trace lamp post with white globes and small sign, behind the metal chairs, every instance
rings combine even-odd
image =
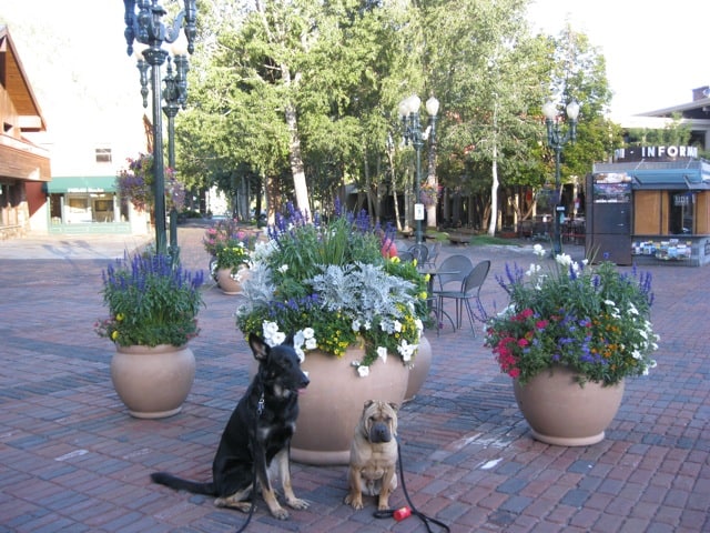
[[[422,221],[424,220],[424,203],[420,198],[420,184],[422,184],[422,148],[424,148],[424,141],[428,137],[426,132],[422,131],[422,122],[419,121],[419,108],[422,100],[416,94],[404,99],[399,102],[399,119],[402,120],[403,137],[405,144],[412,143],[416,151],[417,164],[416,164],[416,179],[414,184],[414,220],[416,221],[416,241],[417,244],[423,242],[422,234]],[[439,111],[439,101],[432,97],[426,102],[426,111],[429,114],[430,131],[434,131],[436,123],[436,113]]]

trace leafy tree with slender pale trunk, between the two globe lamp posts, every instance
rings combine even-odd
[[[544,49],[527,33],[525,3],[467,0],[453,9],[440,2],[428,18],[439,29],[432,84],[446,110],[438,145],[462,171],[488,174],[490,234],[498,223],[499,182],[530,164],[530,140],[539,139],[529,110],[541,101]]]

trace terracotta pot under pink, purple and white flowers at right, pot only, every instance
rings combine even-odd
[[[580,386],[574,376],[572,371],[556,366],[525,385],[514,382],[515,398],[534,439],[559,446],[587,446],[604,440],[621,405],[623,382]]]

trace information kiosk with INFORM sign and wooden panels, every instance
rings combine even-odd
[[[595,164],[586,244],[618,264],[709,264],[710,161],[693,147],[639,147]]]

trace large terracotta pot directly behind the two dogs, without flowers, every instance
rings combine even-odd
[[[363,350],[348,349],[342,358],[308,352],[301,368],[311,384],[301,396],[296,433],[291,443],[294,461],[308,464],[348,464],[355,426],[366,400],[402,404],[409,370],[390,354],[376,361],[367,378],[351,365],[363,359]]]

